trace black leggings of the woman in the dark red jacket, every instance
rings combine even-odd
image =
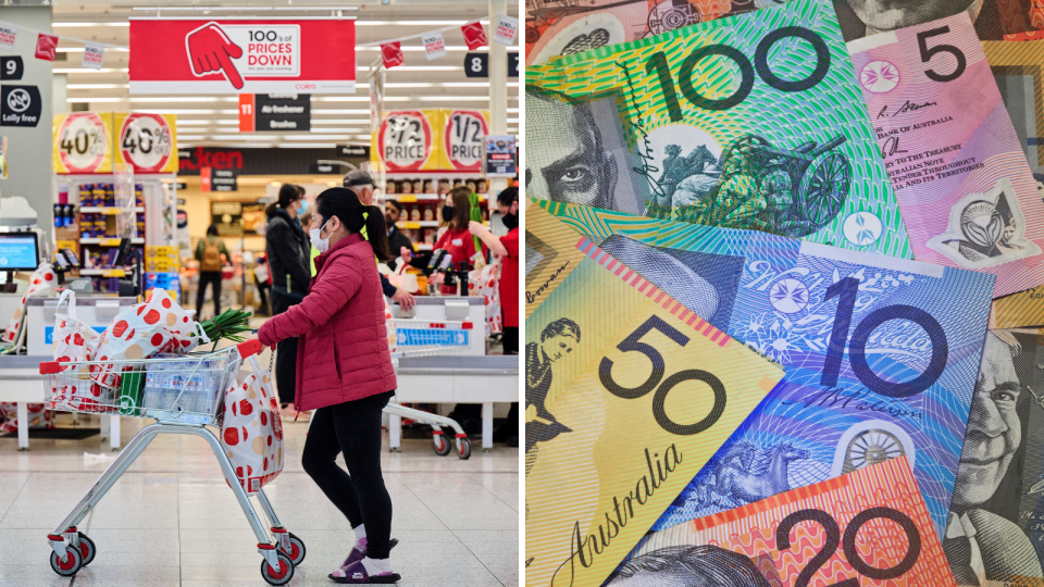
[[[366,526],[366,555],[387,559],[391,496],[381,475],[381,410],[393,391],[320,408],[304,437],[301,464],[351,527]],[[337,465],[345,455],[348,473]]]

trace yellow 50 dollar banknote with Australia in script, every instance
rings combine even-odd
[[[525,321],[529,585],[600,585],[783,377],[587,252]]]

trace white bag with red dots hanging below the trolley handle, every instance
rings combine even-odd
[[[221,446],[239,484],[252,494],[283,472],[283,422],[272,374],[250,357],[252,373],[240,372],[225,391]]]

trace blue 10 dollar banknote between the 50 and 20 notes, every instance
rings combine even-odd
[[[905,455],[942,536],[993,276],[762,233],[546,208],[598,246],[591,254],[611,254],[786,372],[652,529]]]

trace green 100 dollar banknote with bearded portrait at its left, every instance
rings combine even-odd
[[[562,58],[526,82],[531,197],[912,254],[824,0]]]

